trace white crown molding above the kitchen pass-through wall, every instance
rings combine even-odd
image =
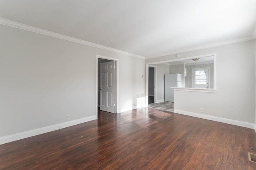
[[[254,30],[255,32],[255,30]],[[174,55],[174,54],[178,54],[178,53],[185,53],[188,51],[194,51],[194,50],[200,50],[200,49],[206,49],[206,48],[210,48],[210,47],[216,47],[216,46],[220,46],[220,45],[227,45],[227,44],[232,44],[232,43],[239,43],[242,41],[249,41],[255,39],[252,36],[249,37],[245,37],[245,38],[240,38],[240,39],[231,39],[231,40],[227,40],[227,41],[221,41],[218,43],[212,43],[212,44],[208,44],[208,45],[201,45],[201,46],[196,46],[196,47],[192,47],[192,48],[187,48],[187,49],[183,49],[180,51],[172,51],[170,53],[165,53],[162,55],[155,55],[155,56],[150,56],[150,57],[146,57],[146,59],[152,59],[152,58],[156,58],[156,57],[163,57],[163,56],[167,56],[167,55]]]

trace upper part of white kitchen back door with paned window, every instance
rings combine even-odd
[[[209,88],[210,68],[193,68],[193,88]]]

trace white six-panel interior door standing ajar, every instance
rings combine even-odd
[[[115,113],[115,61],[100,63],[100,110]]]

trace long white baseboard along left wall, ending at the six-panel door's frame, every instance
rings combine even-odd
[[[63,129],[65,127],[78,125],[80,123],[85,123],[85,122],[96,120],[96,119],[98,119],[98,117],[96,115],[94,115],[94,116],[85,117],[85,118],[82,118],[82,119],[76,119],[76,120],[68,121],[68,122],[65,122],[65,123],[59,123],[59,124],[56,124],[56,125],[51,125],[51,126],[47,126],[47,127],[34,129],[34,130],[31,130],[31,131],[16,133],[14,135],[8,135],[8,136],[0,137],[0,145],[2,145],[4,143],[13,142],[13,141],[18,141],[20,139],[25,139],[25,138],[28,138],[28,137],[40,135],[40,134],[43,134],[43,133],[56,131],[56,130],[59,130],[59,129]]]

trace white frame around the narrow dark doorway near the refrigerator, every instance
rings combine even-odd
[[[145,106],[148,107],[148,69],[154,67],[154,103],[157,102],[157,66],[146,64],[146,92],[145,92]]]

